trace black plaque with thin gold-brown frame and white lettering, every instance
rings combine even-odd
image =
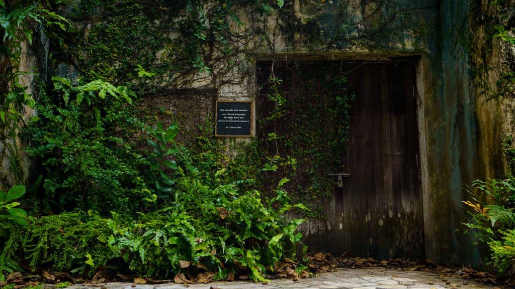
[[[216,136],[251,136],[251,102],[217,102]]]

